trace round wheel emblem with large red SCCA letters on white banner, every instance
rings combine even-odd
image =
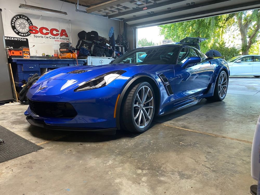
[[[31,34],[42,34],[42,35],[52,35],[52,36],[65,36],[68,37],[68,34],[65,29],[62,29],[61,32],[56,28],[51,28],[50,30],[46,27],[34,26],[30,18],[23,15],[17,14],[11,19],[12,30],[21,37],[28,37]]]

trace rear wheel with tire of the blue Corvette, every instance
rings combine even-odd
[[[220,72],[218,75],[214,94],[212,97],[207,97],[207,100],[213,100],[213,101],[222,101],[226,97],[226,93],[228,90],[228,76],[224,70]]]

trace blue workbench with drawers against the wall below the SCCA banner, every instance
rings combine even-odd
[[[15,86],[21,87],[22,81],[37,73],[39,76],[44,69],[53,70],[65,66],[77,66],[75,59],[42,59],[42,58],[12,58],[9,59],[14,76]],[[86,65],[86,59],[78,59],[79,65]]]

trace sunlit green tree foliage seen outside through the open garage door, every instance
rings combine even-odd
[[[236,14],[227,14],[192,21],[160,25],[159,27],[160,34],[164,35],[165,39],[170,39],[174,42],[179,42],[185,37],[209,38],[207,41],[203,41],[201,43],[201,51],[206,53],[210,49],[216,49],[219,50],[222,55],[226,56],[226,59],[228,59],[241,54],[240,50],[243,54],[248,54],[248,50],[250,53],[256,53],[256,47],[258,46],[256,46],[255,43],[259,41],[260,38],[260,31],[258,29],[259,25],[260,10],[253,10],[239,12]],[[242,34],[242,31],[245,32],[245,36],[242,37],[244,40],[243,44],[241,42],[240,48],[226,47],[224,35],[226,33],[230,34],[232,43],[232,40],[236,40],[236,37],[232,37],[232,35],[237,29],[239,29]],[[255,49],[249,49],[251,46]]]

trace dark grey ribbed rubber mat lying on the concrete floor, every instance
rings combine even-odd
[[[5,141],[5,144],[0,145],[0,163],[43,148],[9,131],[1,125],[0,139]]]

